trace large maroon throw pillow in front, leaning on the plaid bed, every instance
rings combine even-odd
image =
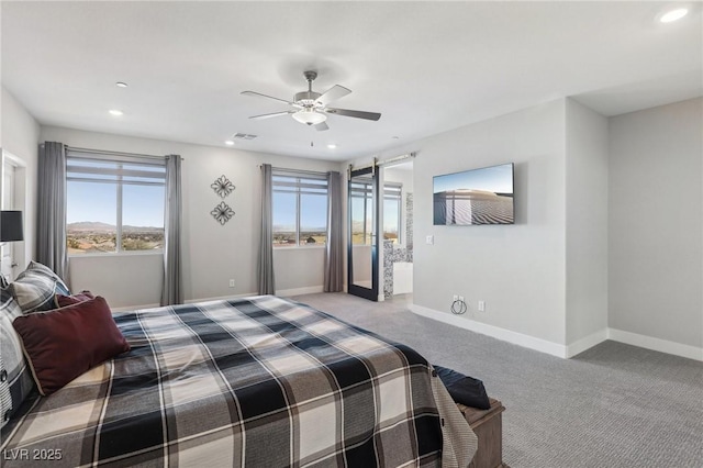
[[[98,296],[74,305],[19,316],[12,322],[43,395],[121,353],[130,345]]]

